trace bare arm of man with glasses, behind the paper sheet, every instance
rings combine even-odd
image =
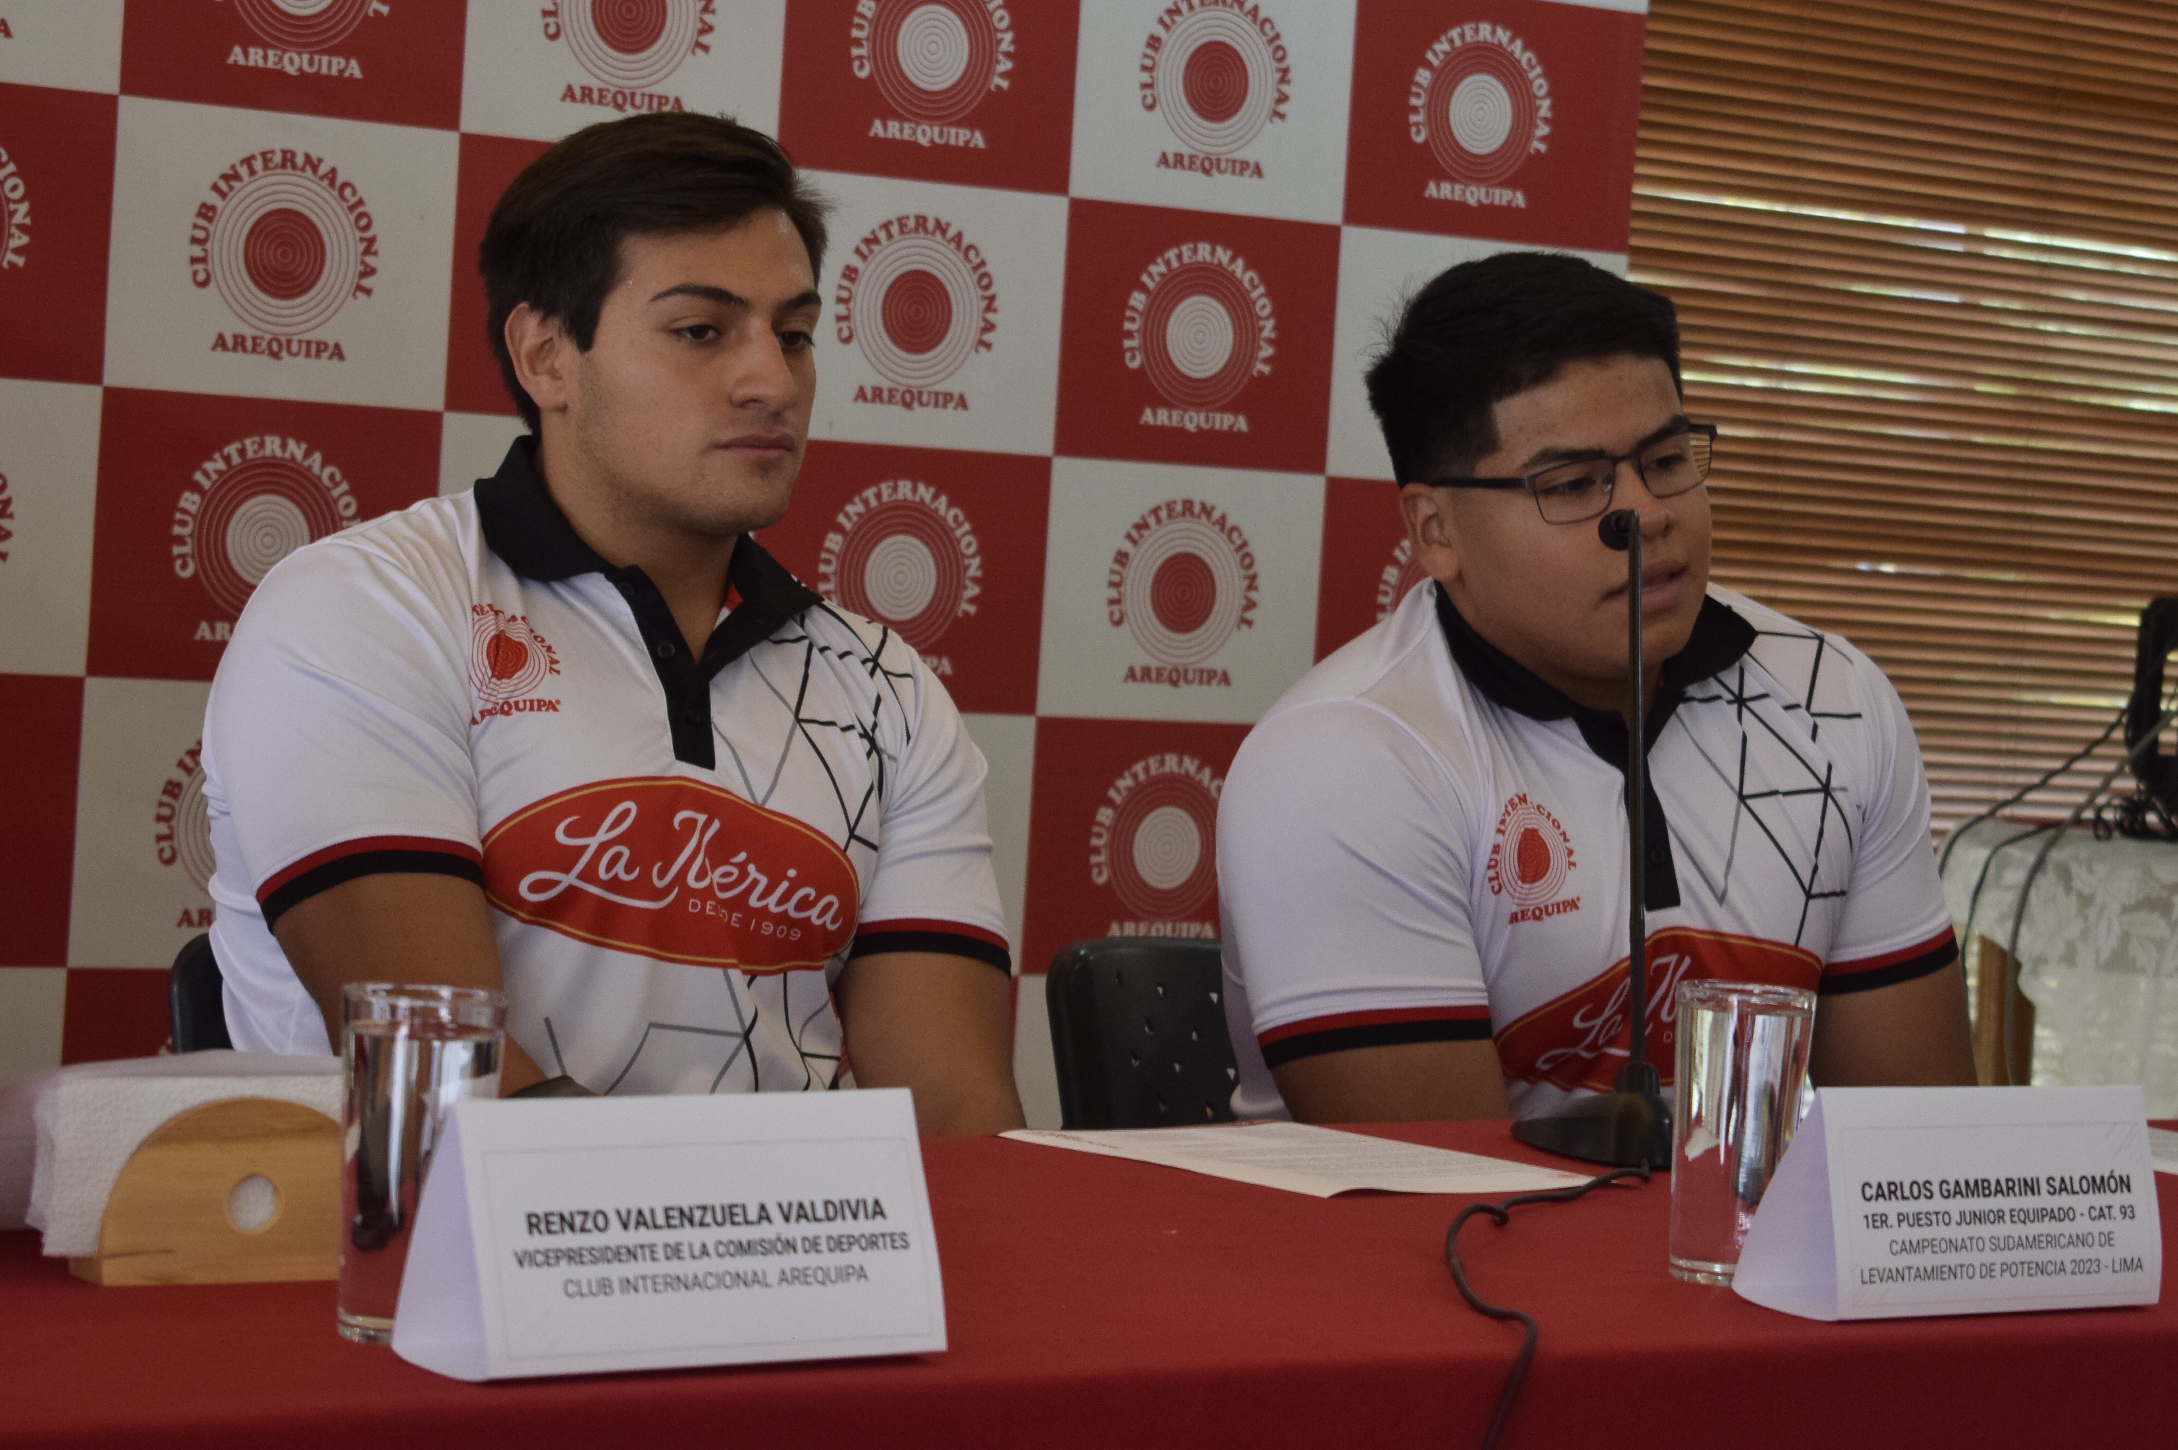
[[[1512,1117],[1496,1043],[1398,1043],[1294,1058],[1270,1069],[1298,1123]]]

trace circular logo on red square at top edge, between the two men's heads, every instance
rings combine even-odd
[[[869,0],[849,22],[856,76],[906,120],[943,124],[976,109],[1013,67],[1013,15],[984,0]]]

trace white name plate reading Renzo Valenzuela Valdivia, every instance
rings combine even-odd
[[[394,1313],[462,1380],[943,1348],[906,1089],[462,1102]]]

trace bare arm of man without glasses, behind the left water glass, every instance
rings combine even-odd
[[[287,908],[272,936],[325,1012],[325,1034],[335,1052],[340,988],[348,982],[503,986],[484,890],[455,875],[359,875]],[[544,1071],[507,1036],[499,1093],[542,1080]]]

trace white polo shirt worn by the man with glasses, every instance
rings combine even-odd
[[[1712,588],[1649,734],[1649,1060],[1688,978],[1847,993],[1956,958],[1906,710],[1845,640]],[[1422,581],[1263,716],[1218,812],[1233,1110],[1270,1067],[1496,1039],[1514,1113],[1627,1056],[1625,725]]]

